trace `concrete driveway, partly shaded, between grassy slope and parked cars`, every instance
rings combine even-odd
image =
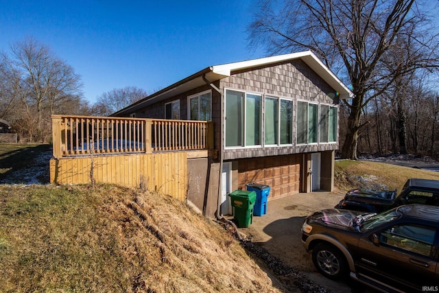
[[[319,209],[333,208],[343,196],[343,191],[312,192],[270,200],[265,215],[253,216],[248,228],[238,229],[270,255],[297,268],[308,279],[332,292],[375,292],[354,281],[344,283],[322,277],[313,266],[311,253],[307,253],[300,241],[300,228],[305,217]]]

